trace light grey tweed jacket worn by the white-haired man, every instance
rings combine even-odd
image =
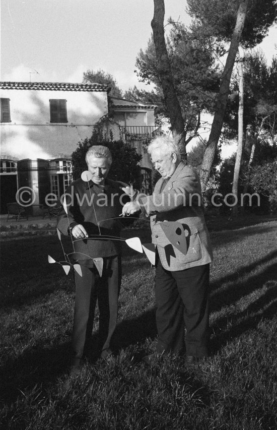
[[[150,216],[152,242],[163,267],[176,271],[210,263],[213,253],[197,172],[181,161],[161,192],[163,183],[160,178],[152,196],[138,196]]]

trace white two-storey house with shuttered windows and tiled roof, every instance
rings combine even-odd
[[[1,213],[24,187],[32,190],[34,215],[49,194],[60,198],[72,180],[72,152],[109,113],[109,104],[114,122],[107,129],[112,128],[115,140],[123,137],[143,153],[142,176],[151,169],[142,140],[130,140],[128,128],[155,129],[154,107],[126,100],[108,103],[108,92],[107,85],[97,83],[1,83]],[[143,129],[137,132],[142,135]],[[20,195],[24,203],[27,194]]]

